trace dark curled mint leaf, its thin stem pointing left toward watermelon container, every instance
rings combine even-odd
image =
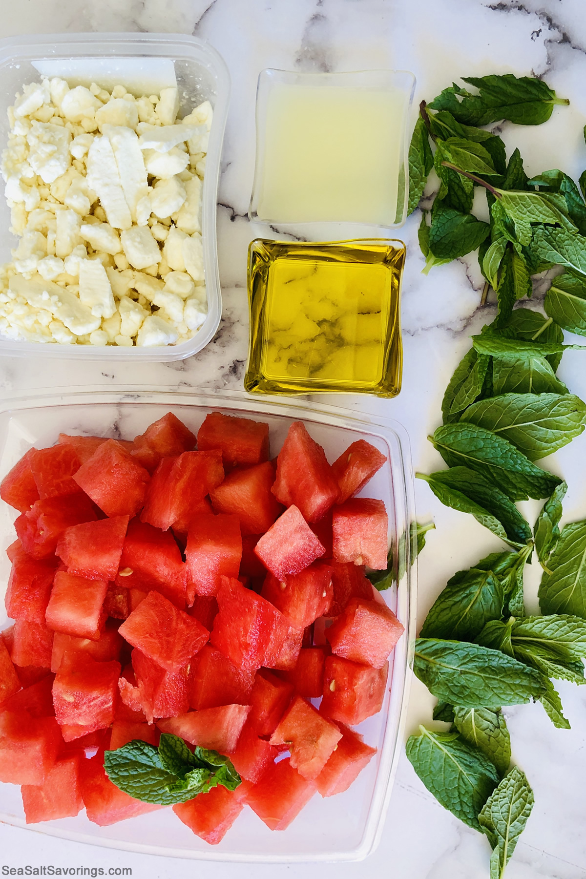
[[[465,413],[466,414],[466,413]],[[442,504],[453,510],[469,512],[478,522],[512,546],[523,546],[531,540],[527,521],[503,491],[467,467],[452,467],[424,479]]]

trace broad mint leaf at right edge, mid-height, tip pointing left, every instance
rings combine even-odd
[[[574,394],[503,394],[473,403],[462,421],[486,427],[539,461],[580,436],[586,405]]]

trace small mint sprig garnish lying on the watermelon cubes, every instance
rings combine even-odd
[[[222,754],[196,747],[163,733],[158,748],[135,739],[116,751],[106,751],[104,768],[110,781],[143,803],[163,806],[186,803],[216,785],[235,790],[240,775]]]

